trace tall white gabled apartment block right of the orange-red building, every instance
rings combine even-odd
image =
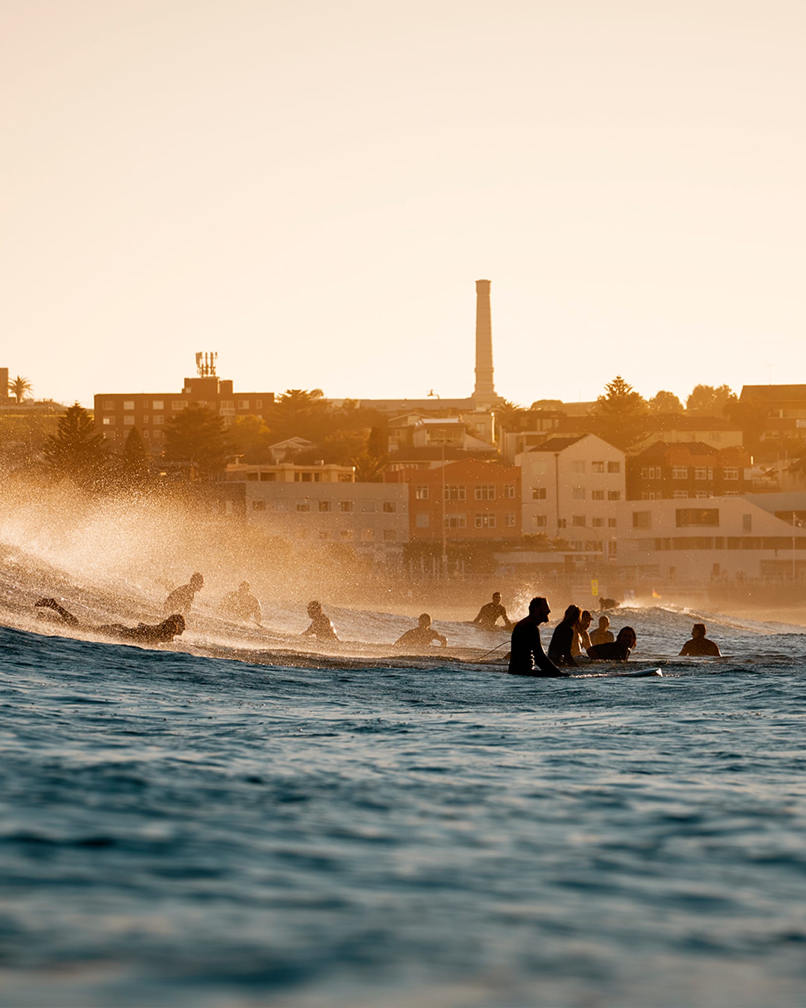
[[[567,539],[574,550],[614,559],[625,497],[624,453],[596,434],[552,437],[515,458],[524,534]]]

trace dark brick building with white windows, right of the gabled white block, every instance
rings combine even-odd
[[[754,488],[753,459],[740,446],[656,442],[626,460],[627,500],[735,497]]]

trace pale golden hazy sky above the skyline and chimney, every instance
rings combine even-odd
[[[37,396],[806,382],[806,4],[0,0]]]

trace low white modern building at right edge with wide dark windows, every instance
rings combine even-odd
[[[803,582],[804,518],[804,494],[626,501],[619,573],[667,585]]]

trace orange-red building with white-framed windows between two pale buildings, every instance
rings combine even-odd
[[[435,469],[387,472],[384,481],[409,484],[411,541],[500,542],[520,539],[521,470],[475,459]]]

